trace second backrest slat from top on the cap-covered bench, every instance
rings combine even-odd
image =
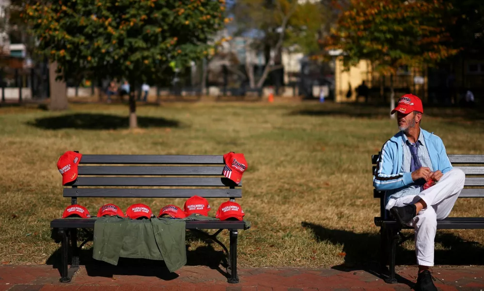
[[[79,175],[135,175],[135,176],[221,176],[223,166],[218,167],[157,167],[157,166],[79,166]]]

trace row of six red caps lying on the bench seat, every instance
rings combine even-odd
[[[194,213],[208,216],[209,210],[210,204],[208,204],[208,200],[195,195],[187,199],[183,209],[172,204],[163,207],[160,210],[158,217],[171,216],[172,218],[185,218]],[[233,201],[226,201],[220,204],[219,210],[217,210],[215,217],[219,218],[220,220],[227,220],[230,218],[243,220],[244,215],[244,210],[242,210],[242,207],[240,207],[238,203]],[[97,217],[102,216],[120,216],[129,217],[131,219],[149,219],[155,217],[155,215],[151,211],[151,208],[141,203],[129,206],[126,210],[126,215],[123,213],[123,210],[121,210],[118,206],[109,203],[99,208],[97,212]],[[68,206],[64,210],[64,212],[62,213],[62,218],[66,217],[90,218],[91,214],[89,214],[89,211],[85,207],[75,204]]]

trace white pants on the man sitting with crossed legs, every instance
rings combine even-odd
[[[415,227],[415,253],[417,264],[434,265],[434,239],[437,231],[437,220],[449,216],[455,200],[464,188],[466,175],[461,169],[453,168],[445,173],[434,186],[423,190],[419,195],[408,195],[400,198],[390,198],[385,209],[393,206],[402,207],[422,199],[427,208],[420,210],[408,226]],[[432,207],[430,207],[432,206]]]

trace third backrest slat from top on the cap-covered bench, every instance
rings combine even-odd
[[[79,177],[72,186],[237,186],[228,178]],[[242,186],[242,181],[238,184]]]

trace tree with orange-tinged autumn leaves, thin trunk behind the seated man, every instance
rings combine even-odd
[[[351,0],[325,41],[326,49],[342,49],[343,65],[369,60],[390,75],[390,107],[395,107],[393,75],[403,65],[422,67],[459,52],[450,33],[453,6],[445,0]]]

